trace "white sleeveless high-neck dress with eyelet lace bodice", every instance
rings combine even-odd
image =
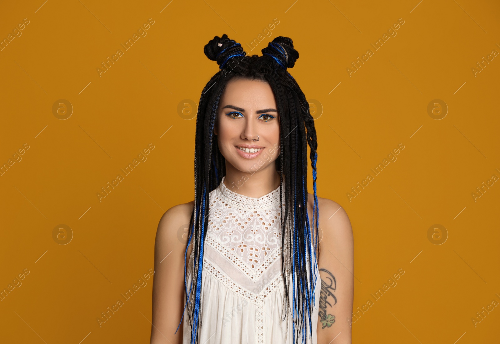
[[[198,342],[291,344],[293,327],[289,310],[288,327],[281,317],[284,278],[279,186],[262,197],[253,198],[230,190],[224,185],[224,179],[225,176],[209,195]],[[284,209],[284,188],[282,190]],[[193,253],[187,267],[188,291]],[[308,332],[304,340],[308,344],[316,344],[321,289],[319,274],[317,276],[315,307],[311,314],[312,340]],[[187,325],[184,314],[183,344],[189,343],[190,334],[191,326]],[[301,340],[300,337],[299,342]]]

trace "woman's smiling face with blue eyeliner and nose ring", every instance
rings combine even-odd
[[[213,131],[226,163],[236,170],[274,170],[274,160],[279,156],[279,114],[269,84],[231,79],[220,98]],[[254,141],[257,135],[258,141]],[[226,169],[231,166],[226,165]]]

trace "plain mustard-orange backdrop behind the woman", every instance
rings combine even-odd
[[[249,54],[278,35],[300,54],[289,71],[323,109],[318,195],[346,209],[354,232],[354,311],[405,271],[352,323],[353,342],[497,342],[500,307],[471,319],[500,302],[500,182],[476,201],[472,192],[500,177],[500,56],[476,75],[472,67],[500,52],[500,4],[168,1],[1,5],[0,38],[29,24],[0,51],[0,162],[29,149],[0,176],[0,289],[29,274],[0,301],[0,341],[149,342],[151,278],[100,327],[96,318],[153,267],[162,213],[194,197],[195,118],[178,106],[196,106],[218,70],[203,46],[227,33]],[[99,76],[149,18],[147,34]],[[370,43],[399,18],[375,51]],[[349,76],[367,49],[373,55]],[[58,99],[71,103],[69,118],[53,114]],[[433,99],[447,104],[442,119],[427,112]],[[147,159],[99,201],[149,143]],[[349,201],[399,143],[397,160]],[[72,232],[64,245],[53,238],[60,224]],[[444,243],[428,238],[435,224],[446,228]]]

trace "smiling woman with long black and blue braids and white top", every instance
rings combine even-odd
[[[194,200],[157,228],[151,343],[350,343],[352,229],[316,195],[314,120],[286,70],[292,40],[247,56],[224,34],[204,53],[219,71],[199,100]]]

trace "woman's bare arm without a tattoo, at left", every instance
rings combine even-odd
[[[182,344],[182,323],[175,333],[184,309],[187,242],[182,233],[189,224],[193,203],[171,207],[158,223],[154,241],[151,344]]]

